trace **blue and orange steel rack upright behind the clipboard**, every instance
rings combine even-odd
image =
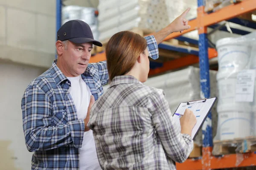
[[[210,79],[209,79],[209,58],[208,58],[208,40],[207,40],[207,27],[204,27],[204,0],[198,0],[198,21],[199,21],[199,67],[200,67],[200,85],[201,85],[201,97],[210,97]],[[203,158],[202,164],[204,170],[210,169],[211,161],[209,157],[212,153],[212,113],[209,113],[203,128]]]

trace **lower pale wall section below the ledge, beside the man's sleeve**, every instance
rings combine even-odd
[[[0,60],[0,170],[31,169],[22,127],[21,98],[45,69]]]

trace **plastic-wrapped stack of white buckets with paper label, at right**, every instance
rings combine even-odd
[[[215,140],[256,135],[255,42],[256,32],[239,38],[224,38],[216,43],[219,100]]]

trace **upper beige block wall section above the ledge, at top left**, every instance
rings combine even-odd
[[[0,59],[49,67],[55,58],[55,13],[55,0],[0,0]]]

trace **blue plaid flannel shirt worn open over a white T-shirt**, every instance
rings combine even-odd
[[[145,37],[149,57],[158,58],[154,36]],[[22,101],[23,131],[32,156],[32,170],[77,170],[79,149],[84,135],[84,120],[78,120],[68,89],[71,84],[55,64],[33,80]],[[108,83],[107,62],[90,63],[81,74],[95,100]],[[86,139],[85,139],[86,140]],[[86,161],[86,160],[84,160]]]

